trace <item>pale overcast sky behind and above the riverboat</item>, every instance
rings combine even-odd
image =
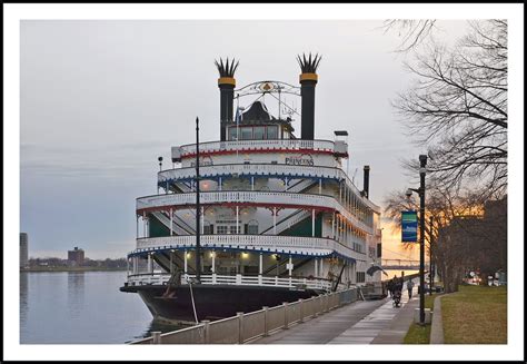
[[[390,106],[411,75],[392,52],[400,39],[381,24],[22,21],[20,229],[30,256],[66,257],[79,246],[91,258],[123,257],[135,248],[136,198],[156,193],[158,156],[168,161],[171,146],[195,140],[197,116],[200,139],[219,138],[219,57],[240,60],[237,87],[265,79],[298,86],[296,55],[321,53],[316,138],[348,130],[349,175],[358,169],[361,189],[369,165],[370,199],[382,205],[411,183],[400,159],[425,150],[410,145]],[[466,22],[438,26],[453,41]],[[300,136],[299,119],[294,127]]]

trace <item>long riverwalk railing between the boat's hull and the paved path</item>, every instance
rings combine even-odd
[[[268,336],[278,329],[288,329],[307,318],[317,317],[330,309],[352,303],[360,298],[359,291],[352,287],[308,299],[285,302],[275,307],[262,307],[251,313],[238,313],[236,316],[218,321],[203,319],[196,326],[170,333],[152,333],[152,336],[130,344],[243,344],[258,337]]]

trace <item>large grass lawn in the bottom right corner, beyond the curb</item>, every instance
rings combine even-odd
[[[441,312],[445,344],[507,344],[506,286],[459,286]]]

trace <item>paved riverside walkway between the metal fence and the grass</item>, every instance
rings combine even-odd
[[[408,301],[404,289],[399,308],[389,297],[358,301],[250,344],[402,344],[419,305],[416,291]]]

